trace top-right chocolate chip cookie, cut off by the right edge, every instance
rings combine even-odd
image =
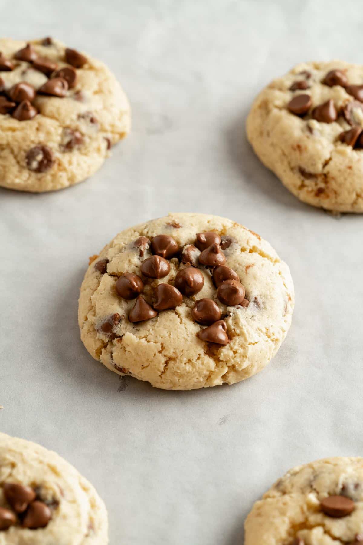
[[[257,96],[247,136],[301,201],[363,212],[363,66],[303,63]]]

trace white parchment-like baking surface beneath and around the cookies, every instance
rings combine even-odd
[[[133,129],[93,178],[0,190],[0,429],[56,450],[107,504],[111,545],[238,545],[285,470],[362,455],[363,217],[300,203],[244,136],[257,92],[303,60],[362,63],[359,0],[17,0],[0,35],[53,35],[99,57]],[[230,217],[290,265],[293,324],[262,373],[191,392],[120,379],[88,355],[88,257],[168,211]]]

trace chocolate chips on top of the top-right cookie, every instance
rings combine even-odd
[[[294,82],[290,90],[309,89],[311,73],[304,70],[299,73],[299,76],[303,76],[303,79]],[[333,123],[342,114],[353,128],[343,131],[339,136],[339,140],[344,144],[348,144],[348,146],[352,146],[352,148],[363,149],[363,129],[360,125],[356,124],[353,115],[354,110],[357,108],[363,112],[363,85],[349,85],[347,76],[342,70],[330,70],[323,78],[322,83],[329,87],[336,85],[343,87],[355,100],[348,102],[342,108],[341,112],[337,110],[333,99],[327,100],[323,104],[313,108],[311,118],[321,123]],[[299,94],[290,100],[287,109],[296,116],[304,117],[311,110],[311,106],[311,96],[308,94]]]

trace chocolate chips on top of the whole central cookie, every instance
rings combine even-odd
[[[141,263],[140,272],[143,277],[133,272],[124,272],[116,281],[115,290],[122,299],[136,299],[128,314],[130,322],[142,322],[155,318],[158,312],[181,305],[183,296],[190,297],[199,293],[204,286],[204,276],[200,267],[211,272],[220,302],[226,306],[248,306],[249,301],[245,299],[245,289],[238,275],[225,265],[226,257],[222,250],[230,246],[229,237],[221,239],[214,232],[197,233],[194,245],[188,244],[183,249],[180,249],[173,237],[164,234],[157,235],[151,241],[146,237],[139,237],[133,244],[139,249],[140,257],[144,256],[145,249],[149,246],[153,255]],[[175,257],[186,267],[177,272],[174,286],[168,283],[157,284],[152,294],[152,305],[149,304],[143,295],[145,283],[149,279],[167,276],[170,271],[169,260]],[[107,272],[107,264],[107,259],[101,259],[95,263],[94,267],[96,271],[104,274]],[[192,309],[192,317],[195,322],[206,326],[198,332],[201,340],[217,344],[229,342],[227,325],[221,319],[222,311],[215,301],[206,298],[196,301]],[[101,331],[112,335],[113,328],[120,319],[119,314],[113,314],[101,325]]]

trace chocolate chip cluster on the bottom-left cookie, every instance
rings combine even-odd
[[[30,486],[5,482],[3,493],[11,509],[0,507],[0,530],[8,530],[15,525],[36,530],[45,528],[51,520],[50,506],[38,499],[35,490]]]

